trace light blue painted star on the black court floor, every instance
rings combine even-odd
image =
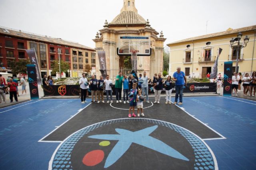
[[[155,125],[135,132],[126,129],[116,128],[115,130],[119,134],[98,134],[88,136],[88,138],[118,140],[114,148],[108,154],[104,168],[108,168],[109,166],[114,164],[119,158],[121,158],[121,156],[128,150],[128,148],[130,148],[132,143],[139,144],[141,146],[150,148],[152,150],[177,159],[189,161],[188,158],[180,154],[180,152],[178,152],[174,148],[168,146],[161,140],[149,136],[149,134],[156,130],[157,127],[158,125]]]

